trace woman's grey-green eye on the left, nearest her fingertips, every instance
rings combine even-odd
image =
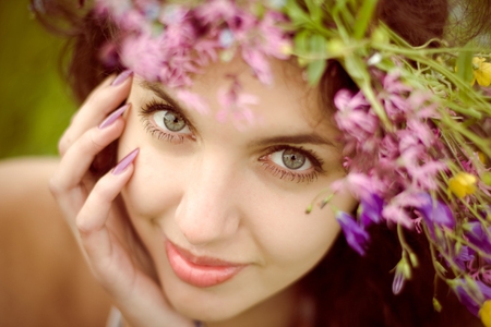
[[[141,108],[140,116],[145,130],[158,140],[178,144],[194,140],[187,119],[168,104],[153,100]]]

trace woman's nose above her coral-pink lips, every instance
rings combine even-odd
[[[240,177],[226,156],[211,155],[195,164],[175,217],[190,244],[204,245],[237,232]]]

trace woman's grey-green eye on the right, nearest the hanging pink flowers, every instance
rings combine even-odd
[[[291,182],[313,182],[324,172],[322,159],[302,147],[275,146],[259,160],[273,175]]]

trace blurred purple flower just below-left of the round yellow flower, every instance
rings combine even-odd
[[[417,208],[421,213],[424,223],[428,226],[432,235],[434,235],[435,225],[447,228],[455,227],[455,219],[448,206],[440,201],[434,201],[428,193],[420,193],[418,197],[420,204]]]

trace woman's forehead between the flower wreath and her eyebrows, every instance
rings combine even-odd
[[[250,66],[240,58],[230,62],[215,62],[205,66],[192,76],[193,84],[189,90],[199,95],[211,109],[211,116],[226,111],[223,99],[235,93],[243,108],[228,108],[228,119],[233,120],[237,110],[250,110],[253,123],[247,130],[290,129],[291,132],[307,130],[325,131],[330,136],[337,130],[332,124],[326,109],[320,102],[319,88],[311,87],[302,77],[303,72],[291,61],[268,60],[273,83],[265,85],[252,73]],[[191,118],[195,117],[192,108],[179,100],[178,89],[161,84],[152,84],[152,88],[160,88],[176,102],[179,102]],[[208,114],[209,116],[209,114]],[[194,120],[194,119],[192,119]],[[197,118],[196,120],[202,120]],[[209,121],[207,119],[206,121]]]

